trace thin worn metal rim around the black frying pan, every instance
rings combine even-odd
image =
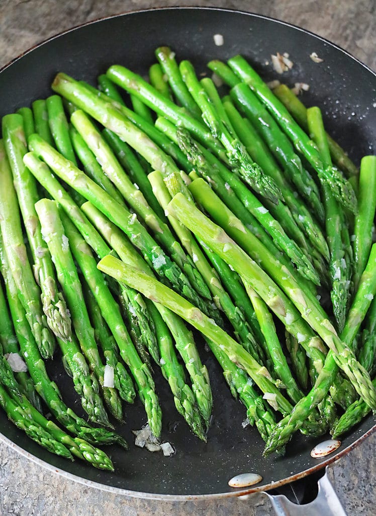
[[[200,7],[195,7],[195,6],[166,7],[165,6],[165,7],[153,7],[153,8],[149,8],[149,9],[135,9],[135,10],[128,10],[128,11],[124,11],[124,12],[121,12],[121,13],[118,13],[118,14],[113,14],[113,15],[110,15],[110,16],[102,17],[102,18],[97,18],[95,20],[90,20],[88,22],[83,22],[83,23],[75,25],[75,26],[73,26],[73,27],[71,27],[69,29],[63,30],[60,33],[54,34],[53,36],[50,36],[50,37],[40,41],[39,43],[36,43],[35,45],[32,45],[31,47],[29,47],[29,49],[25,50],[24,52],[22,52],[18,56],[14,57],[8,63],[6,63],[6,65],[4,65],[2,68],[0,68],[0,74],[3,71],[5,71],[7,68],[9,68],[11,65],[13,65],[13,63],[18,61],[19,59],[21,59],[25,55],[29,54],[33,50],[36,50],[39,47],[43,46],[44,44],[49,43],[50,41],[53,41],[56,38],[59,38],[60,36],[63,36],[65,34],[69,34],[72,31],[75,31],[76,29],[79,29],[81,27],[86,27],[87,25],[92,25],[92,24],[103,22],[103,21],[106,21],[106,20],[111,20],[113,18],[123,17],[123,16],[128,15],[128,14],[137,14],[137,13],[153,12],[153,11],[165,11],[165,10],[178,11],[178,10],[183,10],[183,9],[185,9],[185,10],[187,10],[187,9],[189,9],[189,10],[196,10],[196,11],[197,10],[223,11],[223,12],[228,12],[228,13],[244,14],[244,15],[250,16],[252,18],[259,18],[259,19],[262,19],[262,20],[268,20],[268,21],[272,21],[272,22],[275,22],[275,23],[280,24],[280,25],[291,27],[291,28],[293,28],[295,30],[298,30],[298,31],[304,33],[304,34],[308,34],[310,36],[313,36],[314,38],[316,38],[319,41],[322,41],[322,42],[328,44],[331,47],[334,47],[336,50],[342,52],[343,54],[345,54],[348,57],[350,57],[351,59],[353,59],[358,65],[361,65],[363,68],[365,68],[376,79],[376,72],[374,72],[369,66],[365,65],[365,63],[363,63],[362,61],[360,61],[359,59],[354,57],[350,52],[344,50],[339,45],[331,42],[330,40],[328,40],[326,38],[323,38],[323,37],[313,33],[310,30],[304,29],[304,28],[299,27],[297,25],[294,25],[292,23],[288,23],[288,22],[285,22],[285,21],[282,21],[282,20],[278,20],[277,18],[272,18],[272,17],[265,16],[263,14],[247,12],[247,11],[243,11],[243,10],[239,10],[239,9],[227,9],[227,8],[222,8],[222,7],[210,7],[210,6],[207,6],[207,7],[205,7],[205,6],[200,6]],[[159,501],[165,501],[165,502],[175,502],[175,501],[176,502],[187,502],[187,501],[202,500],[202,499],[208,499],[208,498],[209,499],[232,498],[232,497],[244,496],[244,495],[248,495],[248,494],[252,494],[252,493],[256,493],[256,492],[264,492],[264,491],[267,491],[267,490],[270,490],[270,489],[278,488],[280,486],[285,485],[286,483],[292,482],[294,480],[298,480],[299,478],[303,478],[303,477],[305,477],[307,475],[310,475],[311,473],[314,473],[314,472],[317,472],[317,471],[321,470],[324,467],[327,467],[328,465],[332,464],[333,462],[335,462],[339,458],[343,457],[344,455],[347,455],[350,450],[352,450],[358,444],[360,444],[365,439],[367,439],[375,431],[376,431],[376,424],[374,424],[369,430],[367,430],[364,434],[362,434],[362,436],[357,438],[353,443],[349,444],[346,448],[341,449],[340,451],[338,451],[338,453],[336,453],[332,457],[329,457],[327,460],[322,461],[319,464],[317,464],[315,466],[312,466],[312,467],[310,467],[310,468],[308,468],[308,469],[306,469],[306,470],[304,470],[304,471],[302,471],[302,472],[300,472],[298,474],[294,474],[294,475],[285,477],[285,478],[283,478],[281,480],[277,480],[275,482],[271,482],[271,483],[263,485],[263,486],[253,487],[251,489],[242,489],[242,490],[236,490],[236,491],[224,492],[224,493],[188,494],[188,495],[163,494],[163,493],[143,493],[143,492],[140,492],[140,491],[132,491],[132,490],[127,490],[127,489],[118,488],[118,487],[114,487],[114,486],[108,486],[108,485],[103,484],[103,483],[99,483],[99,482],[95,482],[93,480],[89,480],[89,479],[86,479],[86,478],[83,478],[83,477],[79,477],[79,476],[77,476],[77,475],[75,475],[73,473],[69,473],[69,472],[67,472],[65,470],[58,469],[56,466],[54,466],[54,465],[52,465],[52,464],[50,464],[50,463],[40,459],[39,457],[31,454],[29,451],[25,450],[24,448],[22,448],[18,444],[15,444],[9,438],[4,436],[4,434],[2,434],[1,432],[0,432],[0,441],[4,442],[10,448],[12,448],[15,451],[17,451],[20,455],[22,455],[22,456],[28,458],[29,460],[31,460],[33,463],[38,464],[38,465],[44,467],[45,469],[47,469],[49,471],[57,473],[57,474],[61,475],[62,477],[66,478],[66,479],[69,479],[69,480],[72,480],[74,482],[80,483],[80,484],[82,484],[82,485],[84,485],[86,487],[90,487],[90,488],[93,488],[93,489],[99,489],[99,490],[102,490],[102,491],[107,491],[107,492],[110,492],[110,493],[113,493],[113,494],[117,494],[117,495],[129,496],[129,497],[132,497],[132,498],[143,498],[143,499],[159,500]]]

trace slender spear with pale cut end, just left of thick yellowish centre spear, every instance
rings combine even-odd
[[[170,196],[163,182],[162,174],[158,171],[155,171],[149,174],[148,178],[160,205],[163,209],[166,209],[172,197]],[[234,328],[237,340],[244,346],[244,348],[252,355],[255,360],[261,361],[258,352],[258,344],[254,340],[247,321],[245,320],[244,314],[239,309],[237,309],[231,301],[230,296],[221,285],[215,269],[213,269],[207,261],[194,236],[175,217],[169,215],[168,220],[172,225],[176,235],[180,239],[182,245],[185,247],[186,251],[190,254],[193,261],[195,262],[201,276],[206,281],[218,309],[223,310],[227,315],[231,325]]]

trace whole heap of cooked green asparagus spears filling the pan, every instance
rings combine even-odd
[[[124,402],[138,395],[161,436],[160,367],[206,440],[194,328],[265,454],[297,430],[338,437],[376,410],[376,157],[358,170],[318,107],[241,56],[208,65],[222,97],[167,47],[156,57],[149,82],[59,73],[56,94],[2,120],[0,404],[53,453],[111,470],[97,445],[127,446],[108,415],[122,422]],[[95,426],[48,377],[56,345]]]

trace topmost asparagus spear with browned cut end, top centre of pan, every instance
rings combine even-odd
[[[160,46],[155,54],[179,103],[184,106],[194,118],[201,120],[201,111],[180,75],[179,67],[175,60],[175,53],[172,52],[168,46]]]

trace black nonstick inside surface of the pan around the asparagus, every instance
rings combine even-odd
[[[214,34],[224,36],[224,45],[215,46]],[[305,82],[310,91],[304,101],[323,108],[327,127],[358,163],[373,150],[376,140],[375,75],[360,62],[334,45],[304,30],[275,20],[234,11],[173,8],[129,13],[101,20],[52,38],[6,67],[0,75],[0,115],[29,105],[50,94],[49,84],[56,72],[64,71],[95,84],[95,77],[113,63],[121,63],[142,74],[155,62],[153,51],[170,45],[178,59],[191,59],[199,73],[208,72],[206,63],[242,53],[267,80],[277,74],[265,61],[270,54],[288,52],[294,61],[292,71],[283,75],[288,84]],[[314,63],[309,55],[323,58]],[[210,72],[209,72],[210,75]],[[19,432],[0,414],[0,431],[21,453],[31,454],[44,466],[74,475],[80,481],[98,482],[104,489],[154,497],[165,495],[229,496],[234,493],[228,480],[241,472],[263,476],[256,489],[275,487],[296,476],[323,466],[333,457],[314,460],[310,450],[317,439],[297,433],[283,458],[262,457],[264,443],[254,428],[243,429],[245,409],[233,400],[214,360],[204,351],[213,387],[214,408],[208,442],[193,437],[177,414],[166,382],[157,378],[163,409],[162,440],[173,443],[176,454],[163,457],[135,448],[131,429],[145,424],[140,403],[125,407],[126,423],[118,426],[130,443],[129,451],[109,447],[115,473],[100,472],[77,460],[70,463],[49,454]],[[58,356],[48,366],[63,397],[80,411],[72,393],[72,382],[61,374]],[[374,426],[369,416],[349,434],[339,454],[365,437]],[[337,454],[338,456],[338,454]],[[78,477],[78,478],[77,478]],[[238,492],[236,494],[239,494]]]

